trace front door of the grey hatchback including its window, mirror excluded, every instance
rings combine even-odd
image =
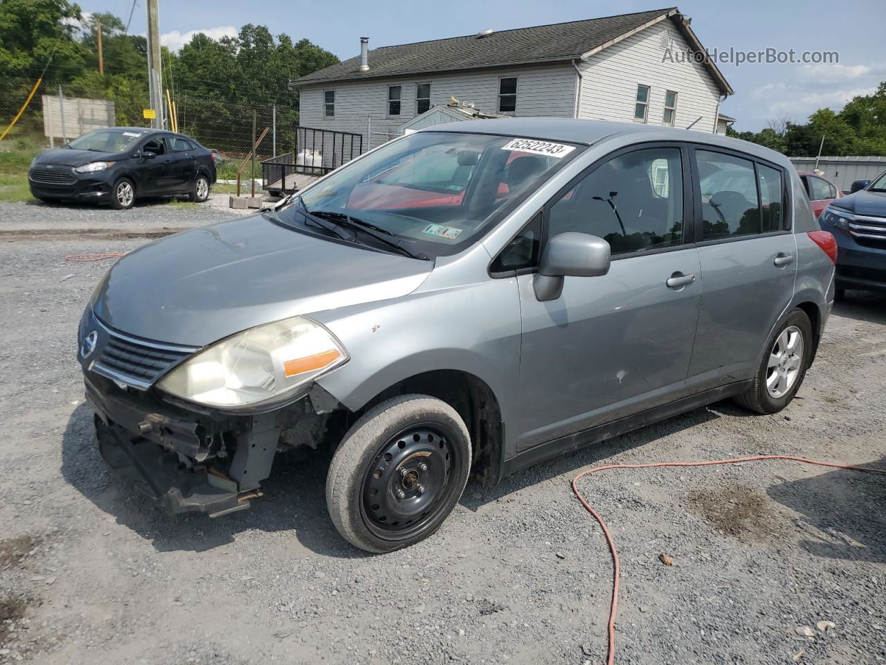
[[[701,301],[688,151],[661,144],[591,167],[546,207],[547,237],[590,233],[609,274],[565,278],[538,301],[517,278],[523,318],[517,450],[671,401],[685,386]]]

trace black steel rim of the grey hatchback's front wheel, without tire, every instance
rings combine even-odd
[[[385,540],[416,536],[444,511],[463,464],[452,440],[445,428],[423,423],[401,430],[378,449],[360,496],[373,535]]]

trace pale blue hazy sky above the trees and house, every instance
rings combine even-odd
[[[113,12],[124,22],[133,0],[78,0],[84,12]],[[360,51],[360,37],[369,48],[473,35],[492,28],[538,26],[658,9],[655,0],[588,2],[587,0],[447,0],[441,2],[354,2],[353,0],[242,0],[170,2],[159,0],[162,43],[177,50],[197,32],[213,37],[236,35],[245,23],[265,25],[274,35],[294,41],[307,37],[340,59]],[[692,29],[710,52],[734,49],[835,51],[828,64],[719,63],[735,91],[721,107],[737,121],[739,131],[758,131],[772,119],[805,122],[810,113],[828,106],[839,110],[856,95],[871,94],[886,81],[886,2],[785,2],[697,0],[677,5],[692,19]],[[211,7],[211,11],[207,8]],[[135,0],[129,31],[144,34],[144,0]]]

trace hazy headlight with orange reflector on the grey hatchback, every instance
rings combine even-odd
[[[157,387],[206,406],[253,406],[281,400],[346,360],[345,348],[323,325],[292,317],[216,342]]]

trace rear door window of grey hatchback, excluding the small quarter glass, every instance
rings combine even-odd
[[[702,238],[759,233],[760,209],[754,163],[723,153],[696,151],[702,190]]]

